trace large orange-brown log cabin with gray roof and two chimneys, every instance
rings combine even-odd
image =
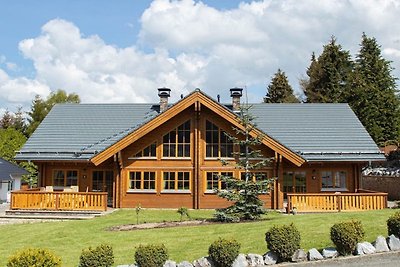
[[[242,89],[230,89],[229,104],[199,89],[170,104],[170,91],[158,89],[155,104],[57,104],[16,159],[38,166],[42,191],[106,192],[102,206],[225,207],[229,203],[216,195],[224,187],[219,175],[243,175],[233,156],[240,148],[225,134],[242,127]],[[289,208],[314,211],[385,207],[384,196],[363,192],[360,183],[362,168],[384,156],[347,104],[251,106],[252,135],[262,136],[255,149],[272,159],[258,170],[275,180],[260,195],[266,208],[288,202]],[[17,203],[21,192],[14,193]],[[337,196],[350,197],[338,204]],[[14,208],[44,207],[18,205]]]

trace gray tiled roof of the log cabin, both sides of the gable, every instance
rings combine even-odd
[[[226,105],[229,107],[229,105]],[[18,160],[90,160],[159,114],[158,104],[59,104]],[[257,127],[307,161],[384,160],[347,104],[253,104]]]

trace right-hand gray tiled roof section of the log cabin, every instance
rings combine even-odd
[[[348,104],[253,104],[257,127],[307,161],[384,160]]]

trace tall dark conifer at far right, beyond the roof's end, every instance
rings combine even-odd
[[[400,101],[390,63],[376,39],[364,33],[346,100],[378,144],[399,138]]]

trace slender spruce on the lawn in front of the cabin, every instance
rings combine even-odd
[[[241,148],[240,152],[235,153],[237,158],[235,167],[243,170],[244,177],[242,179],[223,175],[219,177],[225,183],[226,189],[218,190],[218,196],[233,202],[227,208],[217,209],[215,218],[219,221],[256,220],[265,213],[259,195],[269,191],[273,179],[267,179],[260,173],[260,169],[271,159],[263,158],[259,150],[252,149],[261,143],[262,136],[251,136],[255,124],[252,122],[254,118],[249,114],[250,108],[251,106],[241,107],[239,117],[243,128],[234,128],[236,136],[227,135],[234,145]],[[228,164],[225,161],[222,163]]]

